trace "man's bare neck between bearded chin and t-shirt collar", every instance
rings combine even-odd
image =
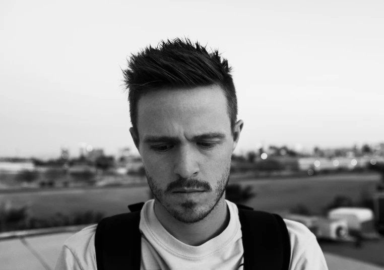
[[[155,199],[154,211],[161,225],[177,240],[191,246],[200,246],[215,238],[228,226],[230,214],[224,196],[202,221],[183,223],[176,220]]]

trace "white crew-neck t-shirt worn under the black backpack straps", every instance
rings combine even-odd
[[[230,220],[227,228],[200,246],[190,246],[174,238],[161,225],[153,210],[154,200],[145,203],[140,218],[142,232],[141,270],[238,269],[242,270],[241,225],[235,204],[226,200]],[[316,237],[304,225],[284,220],[291,243],[290,270],[328,270]],[[95,231],[84,228],[63,245],[55,270],[97,269]]]

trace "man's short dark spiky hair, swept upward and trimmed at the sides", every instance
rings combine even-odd
[[[162,40],[157,47],[149,45],[128,59],[122,70],[125,88],[129,90],[131,122],[137,132],[138,102],[149,91],[164,88],[190,89],[217,85],[227,98],[227,110],[231,130],[234,132],[237,118],[237,98],[231,76],[232,68],[218,50],[208,52],[199,42],[188,38]],[[137,133],[138,134],[138,133]]]

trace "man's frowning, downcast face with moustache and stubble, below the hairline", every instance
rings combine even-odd
[[[208,216],[225,191],[237,143],[221,88],[147,93],[138,103],[138,135],[156,203],[184,223]]]

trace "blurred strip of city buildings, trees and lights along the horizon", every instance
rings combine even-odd
[[[232,155],[231,174],[253,177],[289,176],[378,171],[384,167],[384,143],[354,145],[349,148],[304,151],[300,146],[260,144],[258,149]],[[0,189],[115,185],[146,181],[141,157],[130,148],[116,156],[82,143],[79,153],[67,147],[57,158],[0,157]]]

